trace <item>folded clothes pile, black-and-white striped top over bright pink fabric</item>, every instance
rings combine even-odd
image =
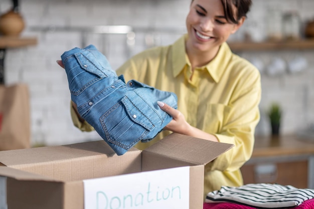
[[[223,206],[223,207],[221,207]],[[270,183],[222,186],[209,192],[204,209],[314,208],[314,189],[298,189],[291,185]]]

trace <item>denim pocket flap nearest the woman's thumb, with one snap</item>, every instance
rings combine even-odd
[[[134,103],[132,103],[129,98],[125,96],[121,99],[121,102],[123,103],[129,118],[134,123],[141,125],[149,131],[154,128],[154,124],[151,122],[151,120],[143,112],[141,112],[139,107],[134,105]]]

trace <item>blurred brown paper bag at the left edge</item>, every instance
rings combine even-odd
[[[28,86],[0,85],[0,151],[30,148],[30,126]]]

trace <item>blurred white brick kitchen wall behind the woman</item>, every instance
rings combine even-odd
[[[56,64],[64,51],[93,44],[116,69],[130,56],[171,44],[184,34],[190,2],[20,0],[18,9],[25,22],[21,38],[35,37],[37,44],[6,49],[5,84],[29,86],[31,143],[60,145],[100,139],[96,132],[81,132],[72,124],[66,74]],[[0,14],[11,7],[11,0],[1,0]],[[261,121],[256,135],[270,134],[267,111],[274,102],[282,109],[280,134],[311,131],[314,44],[296,42],[289,47],[285,43],[305,39],[307,23],[314,20],[313,9],[313,0],[253,0],[244,26],[230,37],[234,52],[261,72]],[[283,47],[268,48],[269,40],[279,40]],[[260,44],[246,45],[250,42]]]

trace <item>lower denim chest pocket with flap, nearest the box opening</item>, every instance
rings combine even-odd
[[[154,128],[153,123],[126,96],[100,117],[109,142],[131,148]]]

